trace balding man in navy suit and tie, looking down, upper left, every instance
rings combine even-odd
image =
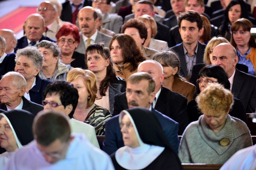
[[[26,36],[17,40],[17,46],[14,52],[16,52],[17,49],[22,49],[27,46],[35,46],[36,43],[42,40],[56,42],[55,39],[51,39],[43,35],[44,29],[44,18],[41,15],[29,15],[24,25]]]

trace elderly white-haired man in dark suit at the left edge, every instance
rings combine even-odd
[[[37,115],[43,106],[28,101],[23,95],[26,92],[26,80],[23,75],[11,71],[4,74],[0,80],[0,109],[5,111],[23,109]]]

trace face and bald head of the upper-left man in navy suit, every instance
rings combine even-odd
[[[27,38],[32,41],[39,41],[44,33],[43,21],[39,17],[30,17],[24,26]]]

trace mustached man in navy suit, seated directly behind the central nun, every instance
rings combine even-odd
[[[124,101],[126,105],[128,101],[127,108],[140,106],[152,111],[152,113],[159,120],[163,132],[177,153],[179,149],[179,138],[177,136],[179,124],[171,118],[156,111],[151,106],[151,103],[154,101],[156,94],[154,89],[155,81],[150,74],[144,72],[134,73],[129,77],[127,81],[126,92],[122,93],[122,97],[126,99],[126,101]],[[118,116],[119,115],[112,117],[105,123],[106,131],[105,141],[103,142],[103,150],[109,155],[115,152],[118,148],[124,146]]]

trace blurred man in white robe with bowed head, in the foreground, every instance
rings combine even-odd
[[[6,169],[114,169],[106,153],[85,136],[71,134],[69,120],[62,113],[40,112],[32,129],[34,140],[13,155]]]

